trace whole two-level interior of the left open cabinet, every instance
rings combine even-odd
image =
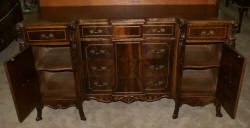
[[[42,98],[75,98],[70,47],[33,46],[32,50]]]

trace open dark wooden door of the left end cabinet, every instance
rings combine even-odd
[[[17,116],[22,122],[40,102],[38,77],[32,49],[28,48],[4,64]]]

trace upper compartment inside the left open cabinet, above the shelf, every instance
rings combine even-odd
[[[41,71],[72,71],[69,47],[35,48],[36,68]]]

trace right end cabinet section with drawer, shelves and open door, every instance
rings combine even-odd
[[[215,104],[217,117],[222,117],[222,106],[235,118],[246,59],[233,48],[232,25],[230,21],[187,21],[173,118],[182,104],[209,103]]]

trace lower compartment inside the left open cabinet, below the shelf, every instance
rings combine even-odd
[[[39,76],[43,99],[73,99],[76,97],[73,72],[40,71]]]

